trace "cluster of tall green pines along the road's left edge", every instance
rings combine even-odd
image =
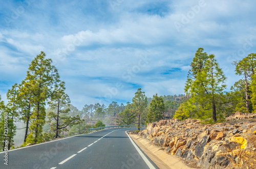
[[[24,145],[44,140],[43,126],[46,122],[51,125],[55,138],[66,127],[81,123],[79,116],[61,116],[69,112],[65,108],[65,105],[70,104],[65,89],[65,82],[60,80],[52,60],[46,59],[46,54],[41,51],[29,65],[26,78],[8,90],[8,103],[5,105],[3,101],[0,102],[0,143],[3,150],[13,146],[15,122],[18,120],[26,124]],[[52,110],[48,112],[48,120],[46,105]]]

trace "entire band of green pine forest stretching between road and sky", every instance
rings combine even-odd
[[[87,103],[81,110],[71,104],[57,68],[43,51],[29,65],[26,78],[7,92],[8,102],[0,96],[1,150],[47,142],[59,137],[83,134],[89,128],[111,125],[146,125],[162,119],[195,118],[217,123],[236,111],[256,111],[256,53],[233,64],[241,79],[226,89],[226,77],[214,54],[199,48],[185,83],[185,94],[146,97],[139,88],[132,102],[112,101],[109,105]],[[230,66],[232,66],[230,65]],[[14,145],[17,131],[22,144]]]

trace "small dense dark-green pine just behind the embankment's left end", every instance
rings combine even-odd
[[[162,97],[158,97],[157,94],[153,96],[150,103],[150,108],[146,116],[146,124],[159,121],[164,116],[164,102]]]

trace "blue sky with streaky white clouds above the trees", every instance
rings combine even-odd
[[[199,47],[215,54],[227,91],[256,52],[256,1],[0,0],[0,95],[44,51],[78,109],[85,104],[184,94]]]

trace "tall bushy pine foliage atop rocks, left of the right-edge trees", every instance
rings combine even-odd
[[[190,96],[187,105],[193,106],[183,104],[175,117],[181,118],[181,110],[183,110],[185,111],[184,118],[188,115],[198,119],[207,119],[212,116],[212,120],[216,122],[217,117],[222,113],[220,105],[224,101],[223,91],[226,88],[224,85],[226,77],[219,67],[215,55],[208,55],[203,52],[203,48],[197,50],[190,66],[185,92]]]

